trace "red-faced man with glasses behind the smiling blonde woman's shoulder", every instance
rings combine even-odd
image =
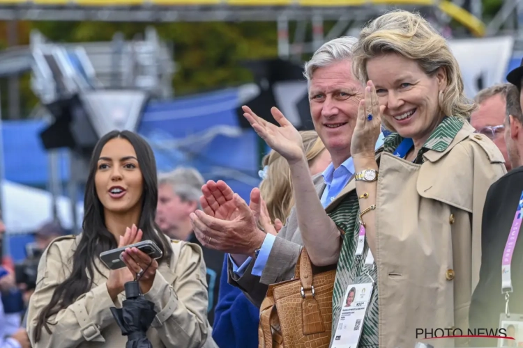
[[[508,159],[507,145],[503,132],[505,126],[506,96],[510,84],[498,84],[480,90],[474,97],[474,101],[479,105],[478,110],[471,115],[470,122],[476,132],[488,136],[497,145],[503,157],[507,171],[512,169]]]

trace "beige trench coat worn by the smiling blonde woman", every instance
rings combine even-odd
[[[496,145],[473,132],[465,122],[448,148],[427,151],[422,165],[381,153],[374,255],[380,348],[413,348],[418,341],[467,346],[458,339],[423,341],[416,329],[467,334],[479,279],[483,204],[490,185],[506,173]],[[353,180],[340,196],[354,189]]]

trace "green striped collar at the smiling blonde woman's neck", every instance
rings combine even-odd
[[[446,117],[441,123],[434,129],[434,132],[430,134],[423,147],[420,151],[426,152],[427,150],[434,150],[437,152],[444,152],[447,150],[448,145],[452,143],[457,132],[463,127],[463,121],[457,117]],[[403,141],[402,136],[397,133],[393,133],[386,137],[384,143],[384,151],[393,153],[398,145]]]

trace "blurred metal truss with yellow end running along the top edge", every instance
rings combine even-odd
[[[110,22],[338,21],[360,24],[391,8],[430,13],[438,24],[461,22],[485,35],[481,0],[0,0],[0,19]],[[520,0],[508,0],[520,1]],[[523,0],[521,0],[523,1]]]

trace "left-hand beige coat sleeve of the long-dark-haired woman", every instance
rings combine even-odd
[[[67,250],[61,244],[72,244],[70,240],[55,241],[40,259],[36,290],[29,301],[27,331],[33,348],[77,347],[81,342],[105,342],[100,333],[109,324],[114,323],[111,308],[114,306],[105,283],[100,284],[77,299],[67,308],[50,317],[47,333],[42,328],[38,342],[34,340],[34,331],[38,315],[51,301],[56,287],[65,279],[64,268],[69,260],[63,260],[61,251]]]

